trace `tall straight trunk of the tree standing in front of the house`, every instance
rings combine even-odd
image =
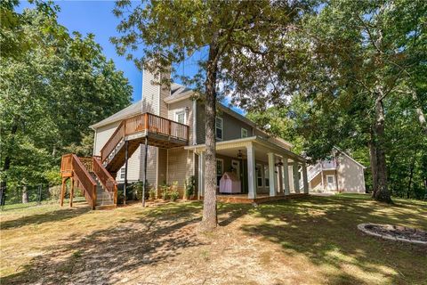
[[[216,75],[218,46],[210,46],[205,82],[205,194],[203,197],[203,218],[200,224],[203,232],[212,232],[216,228],[216,153],[215,153],[215,117],[216,117]]]

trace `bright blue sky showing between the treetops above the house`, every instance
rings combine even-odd
[[[60,6],[58,13],[58,22],[60,25],[68,28],[68,32],[78,31],[83,35],[93,33],[95,41],[102,46],[104,55],[116,63],[119,70],[124,71],[125,77],[129,79],[133,86],[133,102],[141,100],[142,74],[133,61],[126,61],[125,57],[118,56],[114,45],[109,42],[109,38],[119,35],[117,33],[117,24],[119,19],[112,13],[115,6],[114,1],[55,1]],[[22,12],[23,9],[31,7],[26,1],[21,1],[17,9]],[[176,74],[179,76],[191,76],[197,72],[197,61],[204,56],[203,53],[197,53],[187,59],[179,66],[176,66]],[[176,79],[177,83],[181,83]],[[228,102],[225,102],[226,104]],[[233,108],[239,113],[242,110]]]

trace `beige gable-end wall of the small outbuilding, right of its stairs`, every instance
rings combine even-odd
[[[339,191],[365,193],[363,167],[345,155],[338,157],[337,176]]]

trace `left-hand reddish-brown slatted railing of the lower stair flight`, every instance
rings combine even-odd
[[[96,206],[96,185],[97,183],[93,180],[92,175],[86,170],[80,159],[77,158],[76,154],[72,154],[71,164],[73,167],[73,173],[78,180],[78,184],[83,186],[86,200],[89,204],[92,204],[94,209]]]

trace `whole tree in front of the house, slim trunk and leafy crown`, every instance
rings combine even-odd
[[[206,59],[198,62],[198,74],[188,78],[198,93],[205,94],[203,231],[212,231],[217,226],[216,102],[223,94],[236,90],[241,77],[249,75],[249,69],[239,64],[240,61],[254,56],[267,61],[289,22],[299,17],[300,6],[301,2],[264,0],[117,3],[114,12],[122,19],[117,27],[122,35],[111,40],[117,45],[117,53],[128,59],[134,59],[140,47],[142,56],[134,59],[138,67],[143,65],[151,71],[162,72],[186,56],[206,51]],[[265,66],[256,64],[251,70],[260,72],[260,68]],[[219,81],[226,83],[222,90],[219,90]]]

